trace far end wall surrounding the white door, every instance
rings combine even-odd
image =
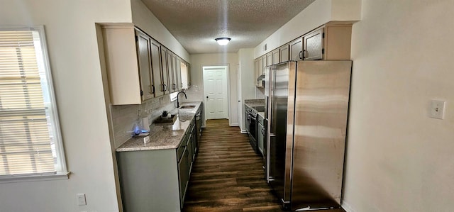
[[[238,125],[237,103],[237,80],[236,80],[236,65],[238,64],[238,55],[236,53],[219,53],[219,54],[195,54],[190,56],[191,60],[191,88],[187,91],[187,99],[184,101],[204,101],[204,80],[203,66],[210,65],[228,65],[229,80],[230,80],[230,98],[231,108],[230,123]]]

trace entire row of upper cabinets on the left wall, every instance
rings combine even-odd
[[[179,57],[165,46],[134,26],[103,26],[102,33],[111,104],[142,104],[182,89]]]

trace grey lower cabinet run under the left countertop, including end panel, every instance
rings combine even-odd
[[[177,149],[117,152],[123,211],[181,211],[196,155],[195,118]]]

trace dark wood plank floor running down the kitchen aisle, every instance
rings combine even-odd
[[[262,157],[226,119],[206,121],[183,211],[282,211],[265,182]]]

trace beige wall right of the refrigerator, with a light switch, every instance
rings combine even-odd
[[[454,1],[362,0],[344,205],[350,211],[453,211]],[[445,119],[428,118],[431,99]]]

